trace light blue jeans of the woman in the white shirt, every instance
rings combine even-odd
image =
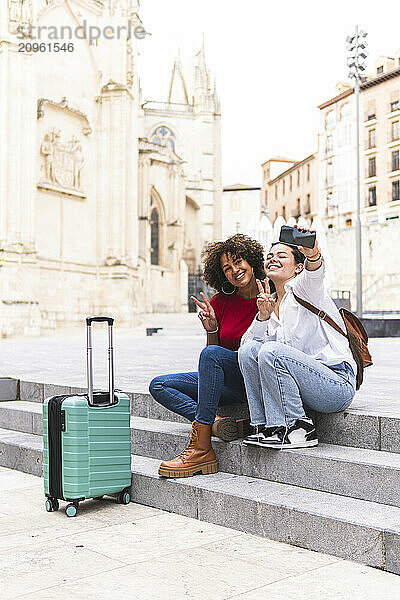
[[[305,417],[303,404],[323,413],[347,408],[356,381],[351,366],[327,367],[279,342],[246,342],[239,349],[252,425],[290,427]]]

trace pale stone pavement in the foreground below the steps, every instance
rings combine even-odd
[[[46,513],[43,480],[5,468],[0,507],[2,600],[400,597],[396,575],[138,504]]]

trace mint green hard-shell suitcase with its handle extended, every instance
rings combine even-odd
[[[93,321],[108,323],[108,392],[93,392]],[[48,512],[58,510],[58,500],[69,503],[69,517],[74,517],[79,502],[88,498],[115,495],[122,504],[130,502],[130,399],[114,390],[113,322],[111,317],[86,319],[88,394],[53,396],[44,401],[43,471]]]

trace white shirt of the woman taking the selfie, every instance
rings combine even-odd
[[[285,284],[285,295],[279,306],[279,318],[273,312],[267,321],[257,321],[257,316],[243,334],[240,345],[249,340],[259,342],[276,341],[293,346],[325,365],[332,366],[345,361],[357,373],[347,338],[329,323],[299,304],[296,296],[307,300],[323,310],[346,333],[346,326],[334,301],[324,285],[325,265],[316,271],[304,269]]]

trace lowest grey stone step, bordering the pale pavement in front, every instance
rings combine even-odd
[[[286,451],[285,451],[286,452]],[[41,436],[0,429],[0,464],[39,475]],[[162,479],[132,457],[132,501],[400,574],[400,508],[219,472]]]

